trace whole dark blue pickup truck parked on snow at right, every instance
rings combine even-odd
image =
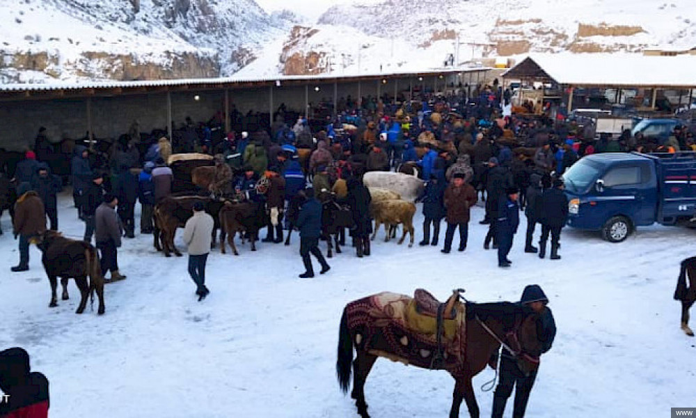
[[[696,153],[587,155],[563,175],[568,225],[621,242],[636,226],[696,216]]]

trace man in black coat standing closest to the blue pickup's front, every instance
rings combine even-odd
[[[558,241],[561,229],[568,219],[568,198],[563,192],[563,179],[553,180],[553,187],[541,195],[541,240],[539,240],[539,258],[546,256],[546,240],[551,233],[551,260],[560,260]]]

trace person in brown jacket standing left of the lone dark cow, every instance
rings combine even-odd
[[[15,240],[19,236],[19,264],[13,272],[29,270],[29,243],[32,238],[46,231],[46,210],[38,193],[31,189],[31,183],[19,183],[15,217],[12,219]]]

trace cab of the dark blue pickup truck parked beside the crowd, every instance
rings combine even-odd
[[[583,157],[563,175],[568,225],[625,240],[635,226],[656,220],[657,173],[650,157],[603,153]]]

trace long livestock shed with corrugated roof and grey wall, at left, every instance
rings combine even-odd
[[[352,95],[404,95],[446,91],[459,84],[484,82],[490,68],[431,68],[414,72],[337,76],[239,77],[113,82],[0,84],[0,148],[24,150],[38,128],[50,141],[115,138],[137,121],[141,132],[223,115],[230,130],[230,110],[259,112],[270,119],[280,104],[308,113],[310,104]],[[264,120],[270,125],[270,120]],[[170,131],[171,132],[171,131]]]

